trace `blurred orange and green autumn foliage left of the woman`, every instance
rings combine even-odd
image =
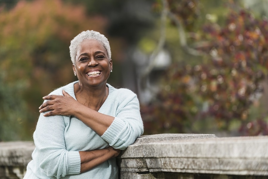
[[[0,141],[31,138],[42,96],[76,80],[70,40],[82,30],[104,33],[106,24],[101,16],[86,16],[82,6],[58,0],[19,1],[1,11]]]

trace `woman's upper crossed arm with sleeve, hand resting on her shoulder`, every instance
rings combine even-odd
[[[143,133],[139,102],[134,93],[130,93],[122,103],[116,117],[102,114],[80,104],[65,91],[63,96],[49,95],[43,99],[48,101],[40,106],[39,112],[49,111],[44,116],[76,116],[113,148],[123,150]]]

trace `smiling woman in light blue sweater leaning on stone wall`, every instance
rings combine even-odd
[[[113,62],[104,35],[78,34],[70,56],[78,81],[43,97],[24,178],[118,178],[115,157],[143,133],[138,98],[107,84]]]

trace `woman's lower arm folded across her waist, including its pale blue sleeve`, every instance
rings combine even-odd
[[[34,132],[34,158],[38,160],[47,176],[57,178],[79,174],[110,158],[119,155],[120,150],[108,147],[94,151],[67,151],[65,146],[65,122],[62,115],[44,117],[40,114]]]

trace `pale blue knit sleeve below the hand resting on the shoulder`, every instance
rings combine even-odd
[[[40,114],[34,132],[35,153],[41,169],[56,178],[80,173],[78,151],[67,151],[64,140],[64,116],[44,117]]]

